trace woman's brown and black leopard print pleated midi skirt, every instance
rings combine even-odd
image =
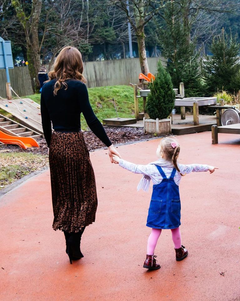
[[[95,176],[82,132],[53,132],[49,149],[53,229],[78,232],[95,221]]]

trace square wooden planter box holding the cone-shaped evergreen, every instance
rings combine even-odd
[[[172,119],[143,118],[144,133],[165,135],[172,133]]]

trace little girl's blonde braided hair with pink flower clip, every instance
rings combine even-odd
[[[162,149],[163,159],[165,159],[167,161],[172,161],[173,166],[177,169],[177,171],[180,173],[180,175],[185,176],[185,174],[183,175],[180,172],[180,169],[179,169],[178,163],[177,163],[177,159],[178,159],[179,152],[180,152],[180,146],[178,144],[178,141],[173,138],[166,137],[161,140],[160,147]]]

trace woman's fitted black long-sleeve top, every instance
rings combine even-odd
[[[51,122],[53,129],[58,132],[81,131],[81,113],[93,133],[106,146],[110,146],[112,143],[89,103],[86,85],[81,81],[68,79],[65,81],[68,88],[65,90],[63,86],[54,96],[55,82],[54,79],[45,83],[41,93],[42,129],[47,146],[50,147],[52,137]]]

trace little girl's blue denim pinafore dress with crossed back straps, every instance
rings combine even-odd
[[[162,168],[156,165],[163,180],[153,185],[153,194],[148,209],[147,226],[156,229],[174,229],[181,224],[181,203],[179,187],[174,182],[176,168],[173,168],[171,176],[166,177]]]

